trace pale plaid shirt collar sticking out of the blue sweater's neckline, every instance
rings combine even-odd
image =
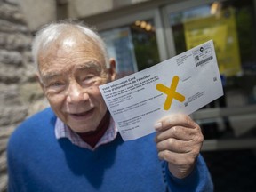
[[[117,135],[116,124],[113,118],[111,117],[107,131],[98,141],[96,146],[92,148],[88,143],[84,142],[84,140],[82,140],[80,136],[76,134],[76,132],[73,132],[70,128],[68,128],[68,126],[64,124],[59,118],[57,118],[57,121],[55,124],[55,136],[58,140],[60,138],[68,138],[68,140],[70,140],[74,145],[80,148],[88,148],[90,150],[94,150],[98,148],[100,145],[103,145],[112,140],[115,140],[116,135]]]

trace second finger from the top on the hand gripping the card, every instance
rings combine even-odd
[[[178,140],[192,140],[197,132],[197,129],[188,129],[187,127],[173,126],[170,129],[165,130],[164,132],[156,132],[156,142],[159,142],[161,140],[167,140],[169,138],[174,138]]]

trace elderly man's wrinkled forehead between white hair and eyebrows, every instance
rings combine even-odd
[[[104,54],[98,44],[90,38],[63,36],[49,44],[44,52],[39,53],[38,72],[41,78],[53,72],[84,69],[84,65],[88,70],[91,64],[98,65],[101,72],[106,71]]]

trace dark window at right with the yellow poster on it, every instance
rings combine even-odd
[[[172,6],[167,9],[176,54],[213,39],[225,92],[219,100],[203,108],[206,109],[204,115],[202,112],[198,116],[205,116],[203,120],[198,120],[203,128],[204,138],[222,138],[225,134],[245,137],[256,127],[253,1],[201,2],[195,6],[191,4],[188,8],[176,11]],[[218,108],[221,110],[217,112]],[[205,115],[207,111],[214,113],[214,110],[216,116]]]

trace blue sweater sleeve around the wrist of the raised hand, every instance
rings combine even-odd
[[[210,172],[199,155],[194,170],[184,179],[176,178],[168,169],[167,162],[164,162],[167,185],[170,191],[213,191],[213,184]]]

